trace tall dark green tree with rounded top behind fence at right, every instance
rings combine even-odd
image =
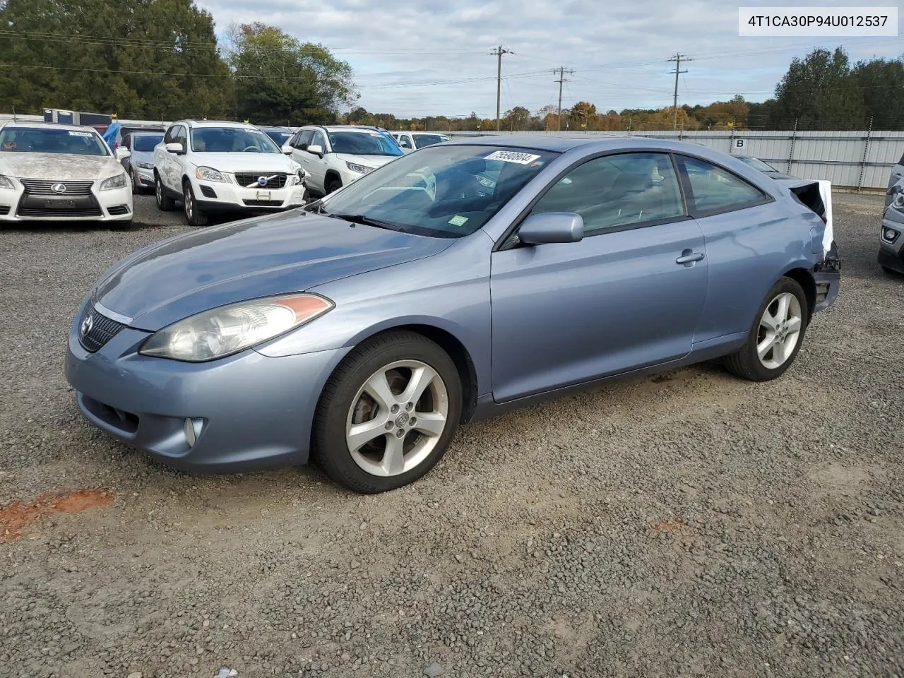
[[[847,53],[817,48],[791,61],[776,86],[773,125],[797,120],[799,129],[851,129],[863,124],[862,97],[852,89]]]

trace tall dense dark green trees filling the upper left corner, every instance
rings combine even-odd
[[[223,115],[231,76],[192,0],[0,3],[0,101],[132,118]]]

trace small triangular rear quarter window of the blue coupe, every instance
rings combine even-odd
[[[767,201],[767,196],[736,174],[695,157],[677,155],[690,191],[688,209],[692,213],[740,210]]]

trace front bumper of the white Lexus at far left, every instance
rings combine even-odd
[[[89,195],[57,196],[25,193],[24,186],[0,188],[0,221],[131,221],[132,189],[98,189]]]

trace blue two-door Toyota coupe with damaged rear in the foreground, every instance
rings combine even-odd
[[[87,419],[166,464],[313,457],[382,492],[535,400],[720,357],[777,378],[838,294],[826,235],[702,146],[454,140],[138,250],[80,306],[66,375]]]

